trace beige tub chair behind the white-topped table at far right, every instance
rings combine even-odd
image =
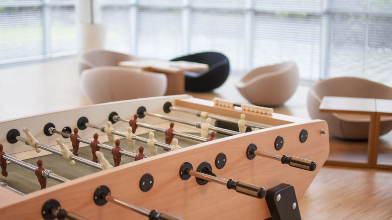
[[[365,140],[369,135],[370,116],[358,114],[320,113],[319,106],[324,95],[392,99],[392,88],[370,80],[356,77],[337,77],[318,82],[308,93],[308,111],[312,119],[328,123],[331,136]],[[381,117],[380,136],[392,129],[392,117]]]

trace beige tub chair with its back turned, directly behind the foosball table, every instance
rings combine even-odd
[[[167,77],[119,66],[101,66],[83,70],[81,81],[85,95],[93,103],[162,96]]]

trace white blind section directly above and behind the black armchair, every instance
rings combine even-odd
[[[245,67],[245,11],[193,9],[190,53],[216,51],[225,54],[232,70]]]

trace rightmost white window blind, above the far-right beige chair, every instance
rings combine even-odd
[[[356,76],[392,85],[392,2],[333,1],[328,77]]]

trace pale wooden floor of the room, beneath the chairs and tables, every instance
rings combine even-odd
[[[234,87],[236,80],[229,78],[213,93],[189,94],[246,103]],[[274,112],[309,118],[308,90],[309,84],[301,83]],[[90,104],[83,95],[74,57],[0,67],[0,103],[0,121]],[[392,171],[324,166],[299,207],[303,219],[392,219]]]

